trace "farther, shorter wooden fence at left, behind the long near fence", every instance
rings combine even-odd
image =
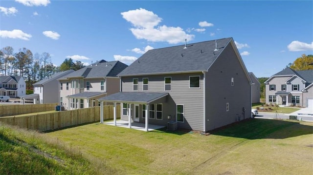
[[[3,105],[0,106],[0,117],[53,111],[56,105],[58,105],[58,103]]]

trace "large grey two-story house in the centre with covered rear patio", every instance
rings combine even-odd
[[[232,38],[149,50],[118,76],[121,92],[99,100],[121,103],[121,119],[146,131],[206,132],[251,117],[252,81]]]

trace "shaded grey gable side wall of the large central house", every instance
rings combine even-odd
[[[206,131],[251,117],[250,82],[231,45],[211,65],[205,81]]]

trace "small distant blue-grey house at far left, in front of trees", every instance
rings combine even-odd
[[[11,98],[26,94],[26,83],[22,76],[0,76],[0,96]]]

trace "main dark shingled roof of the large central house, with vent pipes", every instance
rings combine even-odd
[[[149,50],[118,76],[206,71],[232,38]],[[216,45],[218,50],[215,51]]]

